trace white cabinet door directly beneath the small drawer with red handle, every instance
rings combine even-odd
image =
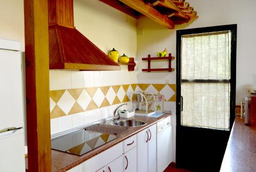
[[[136,147],[123,154],[123,171],[124,172],[136,172],[137,171],[137,158]]]

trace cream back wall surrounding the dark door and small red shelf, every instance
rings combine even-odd
[[[236,104],[243,99],[245,94],[244,88],[256,87],[256,23],[253,17],[256,16],[254,7],[256,1],[233,1],[233,0],[197,0],[189,1],[190,5],[198,11],[199,18],[194,22],[184,23],[176,26],[174,30],[168,30],[148,18],[140,18],[138,20],[138,29],[143,30],[143,35],[139,35],[138,41],[138,59],[145,57],[147,54],[154,55],[155,52],[167,48],[168,52],[176,56],[176,30],[200,28],[209,26],[219,26],[224,24],[238,24],[237,35],[237,91]],[[175,66],[176,61],[174,61]],[[139,70],[144,67],[144,63],[139,61]],[[159,63],[158,66],[163,66]],[[175,66],[176,68],[176,66]],[[159,78],[159,83],[165,83],[166,78],[172,83],[176,82],[176,72],[172,74],[158,73],[138,73],[138,82],[150,82],[151,78]],[[176,138],[176,109],[172,107],[174,145]],[[175,157],[176,146],[174,146]]]

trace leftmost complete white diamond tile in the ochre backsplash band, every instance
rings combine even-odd
[[[75,100],[72,95],[66,90],[63,95],[60,97],[57,105],[62,109],[62,111],[67,115],[69,111],[72,109],[73,105],[75,104]]]

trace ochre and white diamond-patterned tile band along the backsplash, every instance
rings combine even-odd
[[[130,101],[134,91],[150,91],[176,101],[176,84],[125,84],[50,91],[51,119]]]

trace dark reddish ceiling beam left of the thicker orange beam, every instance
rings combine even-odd
[[[113,1],[113,0],[99,0],[101,1],[102,3],[105,3],[127,15],[130,15],[134,18],[139,18],[140,16],[140,13],[126,5],[124,5],[123,3],[121,3],[120,1]]]

